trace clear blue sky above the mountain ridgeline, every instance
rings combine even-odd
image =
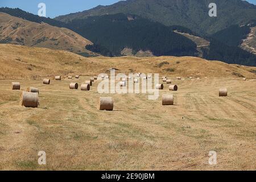
[[[98,5],[112,5],[120,0],[0,0],[0,7],[19,7],[24,11],[38,14],[38,4],[46,4],[46,16],[54,18],[58,15],[76,13]],[[256,5],[256,0],[247,0]]]

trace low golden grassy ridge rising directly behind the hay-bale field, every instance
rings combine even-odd
[[[43,61],[42,61],[43,60]],[[160,73],[182,77],[256,78],[255,67],[229,65],[197,57],[82,57],[46,48],[0,44],[0,78],[34,79],[55,75],[98,75],[109,68],[119,73]]]

